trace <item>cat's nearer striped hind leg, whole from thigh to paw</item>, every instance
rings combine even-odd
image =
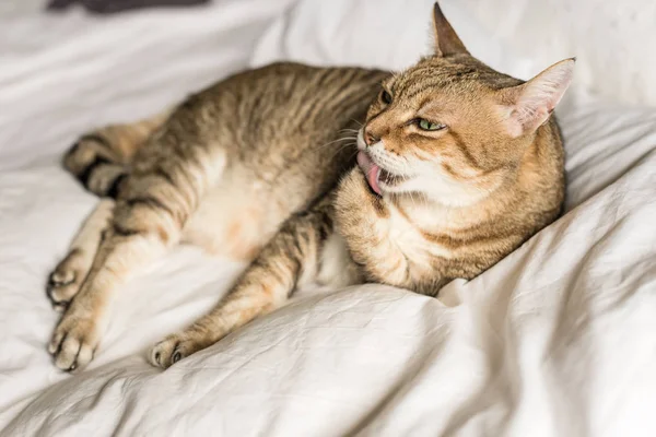
[[[48,350],[61,369],[89,364],[116,290],[179,241],[186,221],[225,167],[224,150],[209,153],[169,133],[153,144],[154,160],[141,160],[126,179],[91,270],[55,329]]]

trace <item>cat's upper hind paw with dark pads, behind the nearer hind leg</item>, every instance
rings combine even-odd
[[[89,270],[86,264],[84,255],[74,249],[50,273],[46,293],[55,310],[62,312],[78,294]]]

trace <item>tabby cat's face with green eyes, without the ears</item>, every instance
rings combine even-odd
[[[493,92],[480,83],[488,70],[471,57],[433,57],[383,84],[358,141],[375,191],[467,204],[500,184],[516,156],[497,146],[509,138]]]

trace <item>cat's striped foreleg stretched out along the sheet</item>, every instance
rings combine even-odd
[[[326,197],[308,212],[288,220],[219,305],[153,346],[150,362],[166,368],[281,307],[297,286],[316,277],[321,249],[332,233],[331,215],[331,197]]]

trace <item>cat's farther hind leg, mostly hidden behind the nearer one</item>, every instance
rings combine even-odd
[[[56,310],[66,309],[78,294],[91,269],[103,234],[112,221],[114,203],[114,199],[101,200],[71,243],[69,253],[50,273],[47,293]]]

